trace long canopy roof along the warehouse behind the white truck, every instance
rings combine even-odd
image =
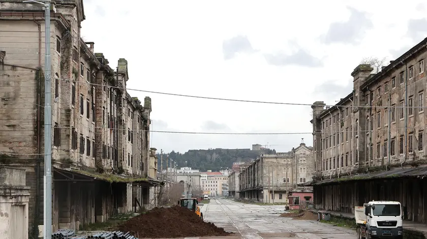
[[[427,167],[407,168],[407,169],[392,169],[388,171],[377,171],[372,173],[357,174],[354,176],[346,176],[342,178],[324,179],[321,181],[311,181],[301,183],[301,186],[316,186],[323,184],[336,184],[340,182],[372,180],[372,179],[393,179],[393,178],[423,178],[427,176]]]

